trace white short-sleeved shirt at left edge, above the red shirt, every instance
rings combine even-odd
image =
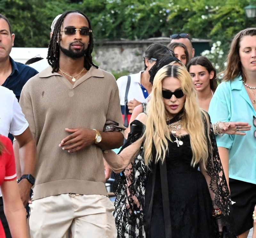
[[[0,86],[0,134],[8,137],[10,132],[17,136],[28,128],[28,122],[21,111],[14,93]]]

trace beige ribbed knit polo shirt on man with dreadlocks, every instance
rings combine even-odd
[[[49,66],[25,84],[20,106],[37,145],[33,199],[65,193],[107,195],[100,147],[68,153],[59,144],[71,134],[65,128],[102,131],[112,120],[125,129],[114,76],[92,66],[72,85]]]

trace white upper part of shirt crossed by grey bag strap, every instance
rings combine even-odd
[[[134,98],[140,102],[146,102],[146,103],[148,102],[148,98],[144,98],[142,89],[140,87],[140,84],[141,84],[140,83],[140,75],[142,72],[144,72],[144,71],[140,71],[137,74],[130,75],[131,76],[131,84],[130,84],[129,92],[127,95],[127,102],[133,100]],[[116,80],[118,90],[119,90],[119,99],[120,99],[121,106],[124,106],[124,96],[125,96],[127,80],[128,80],[127,75],[122,76]]]

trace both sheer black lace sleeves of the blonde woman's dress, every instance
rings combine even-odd
[[[210,117],[207,114],[210,121]],[[122,149],[139,139],[142,135],[143,124],[137,120],[133,121],[136,128],[131,127],[131,132]],[[206,118],[204,117],[204,128],[207,132]],[[232,233],[231,222],[229,218],[231,199],[224,175],[223,167],[220,162],[218,147],[215,136],[210,124],[209,156],[205,165],[206,170],[202,171],[207,181],[208,188],[212,198],[213,208],[220,208],[222,216],[216,220],[215,238],[222,234],[222,227],[226,226],[226,237],[235,237]],[[121,151],[122,151],[121,149]],[[145,217],[143,209],[145,207],[145,186],[147,183],[147,167],[143,160],[143,150],[122,173],[116,174],[116,181],[113,189],[116,194],[114,217],[116,221],[118,238],[145,238]]]

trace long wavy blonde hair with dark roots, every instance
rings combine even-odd
[[[168,153],[170,131],[166,125],[166,111],[162,97],[162,81],[167,77],[180,80],[181,89],[186,97],[181,124],[190,135],[193,158],[191,165],[196,166],[208,157],[207,138],[204,131],[203,114],[197,104],[197,94],[188,71],[180,66],[166,65],[155,76],[151,99],[147,105],[148,119],[142,139],[144,139],[144,159],[148,166],[153,161],[153,146],[156,150],[156,160],[164,162]]]

